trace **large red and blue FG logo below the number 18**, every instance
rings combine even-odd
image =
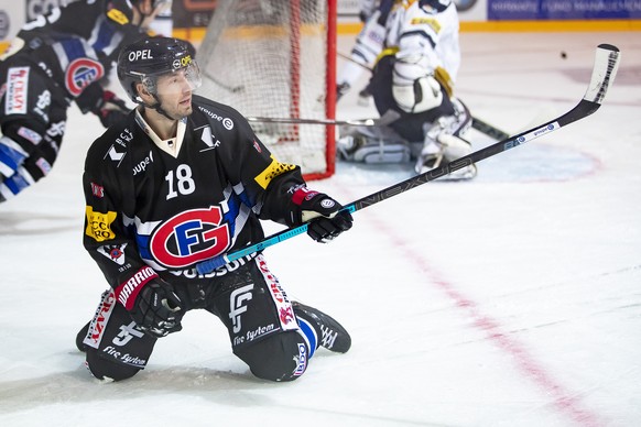
[[[229,225],[219,207],[193,209],[162,223],[151,237],[153,258],[170,269],[191,265],[229,249]]]

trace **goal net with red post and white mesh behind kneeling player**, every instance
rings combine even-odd
[[[336,0],[218,0],[196,58],[198,92],[250,119],[280,162],[334,174],[335,127],[295,119],[335,118]]]

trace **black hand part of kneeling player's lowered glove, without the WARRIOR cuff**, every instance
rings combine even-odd
[[[161,338],[183,329],[176,316],[180,310],[181,299],[172,285],[155,277],[140,291],[129,314],[140,329]]]

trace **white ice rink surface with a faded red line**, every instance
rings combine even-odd
[[[622,62],[594,116],[480,162],[472,182],[358,211],[330,244],[267,250],[285,289],[354,340],[293,383],[254,379],[202,311],[133,379],[90,377],[74,339],[106,285],[82,247],[80,173],[101,128],[72,109],[50,177],[0,205],[0,426],[641,425],[639,33],[465,33],[457,90],[518,132],[578,102],[600,43]],[[374,116],[357,92],[340,119]],[[339,164],[313,186],[350,201],[409,174]]]

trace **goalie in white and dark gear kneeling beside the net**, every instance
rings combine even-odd
[[[344,127],[337,143],[345,161],[392,163],[415,161],[417,174],[471,153],[465,133],[471,125],[467,107],[454,97],[460,66],[459,22],[449,0],[409,0],[394,4],[385,21],[384,50],[368,91],[387,125]],[[476,176],[476,165],[450,179]]]

